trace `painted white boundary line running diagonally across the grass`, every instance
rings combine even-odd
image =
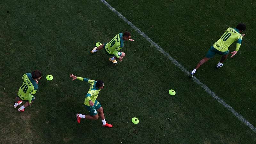
[[[179,67],[183,72],[185,72],[187,75],[189,75],[188,70],[182,66],[178,61],[176,61],[174,58],[172,58],[167,52],[164,51],[156,42],[152,41],[146,34],[140,31],[139,28],[134,26],[129,20],[127,20],[121,13],[116,11],[110,4],[108,4],[105,0],[100,0],[103,4],[105,4],[111,11],[115,12],[118,17],[123,19],[128,25],[130,25],[134,30],[136,30],[141,36],[143,36],[148,42],[150,42],[153,46],[156,47],[157,50],[159,50],[164,56],[168,57],[173,64],[175,64],[177,67]],[[208,88],[205,84],[203,84],[200,80],[198,80],[195,76],[193,77],[193,80],[200,85],[204,90],[209,93],[213,98],[215,98],[218,102],[220,102],[224,107],[226,107],[230,112],[232,112],[240,121],[242,121],[245,125],[250,127],[252,131],[256,133],[256,128],[249,123],[242,115],[237,113],[231,106],[229,106],[226,102],[224,102],[219,96],[215,95],[210,88]]]

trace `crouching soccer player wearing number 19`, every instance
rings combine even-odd
[[[129,32],[124,32],[117,34],[110,42],[100,45],[98,48],[95,47],[92,49],[92,53],[97,52],[100,49],[105,50],[107,55],[113,56],[112,58],[109,58],[108,60],[112,63],[116,64],[116,59],[119,59],[120,62],[123,61],[123,57],[125,57],[124,52],[120,52],[119,50],[124,47],[124,41],[134,41],[131,39],[131,34]]]

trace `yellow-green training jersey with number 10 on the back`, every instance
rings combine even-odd
[[[226,32],[220,37],[220,39],[213,44],[213,47],[219,51],[228,51],[228,47],[235,41],[236,44],[236,51],[238,51],[241,43],[242,43],[243,36],[239,33],[239,30],[236,28],[229,27]]]

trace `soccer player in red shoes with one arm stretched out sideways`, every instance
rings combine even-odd
[[[98,97],[99,91],[104,87],[104,82],[101,80],[95,81],[95,80],[89,80],[82,77],[77,77],[74,74],[70,74],[70,77],[73,78],[73,80],[78,79],[81,81],[86,81],[91,85],[84,100],[85,108],[90,112],[90,115],[82,115],[77,113],[76,114],[77,122],[80,123],[81,118],[97,120],[100,116],[103,127],[112,127],[112,125],[106,122],[106,119],[103,113],[103,108],[101,107],[100,103],[96,100],[96,98]]]

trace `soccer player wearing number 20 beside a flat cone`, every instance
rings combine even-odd
[[[24,80],[22,86],[18,91],[18,96],[15,98],[14,108],[17,108],[23,101],[26,103],[21,106],[18,110],[23,112],[25,108],[32,104],[36,100],[35,94],[38,89],[38,80],[42,77],[42,73],[38,70],[31,73],[25,73],[22,76]]]

